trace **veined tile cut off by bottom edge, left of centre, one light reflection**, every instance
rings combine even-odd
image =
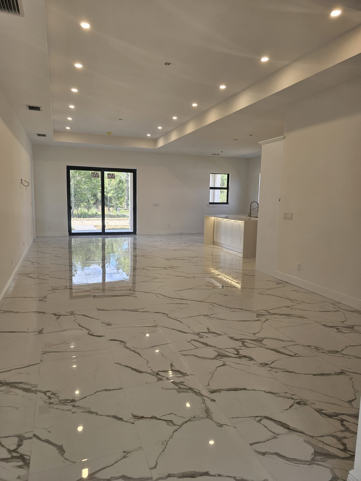
[[[153,480],[141,447],[30,475],[29,481]]]

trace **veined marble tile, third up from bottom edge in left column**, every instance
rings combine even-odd
[[[96,309],[48,315],[41,349],[42,361],[77,358],[108,351]]]

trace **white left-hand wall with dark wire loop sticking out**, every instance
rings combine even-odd
[[[32,241],[31,153],[31,142],[0,88],[0,299]],[[20,178],[30,183],[27,189]]]

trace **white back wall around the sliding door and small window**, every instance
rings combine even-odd
[[[38,236],[67,235],[66,165],[137,169],[138,234],[203,232],[206,214],[246,211],[247,159],[40,145],[33,152]],[[210,173],[231,174],[229,207],[207,206]]]

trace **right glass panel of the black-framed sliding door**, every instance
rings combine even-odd
[[[105,232],[133,231],[133,173],[104,171]]]

